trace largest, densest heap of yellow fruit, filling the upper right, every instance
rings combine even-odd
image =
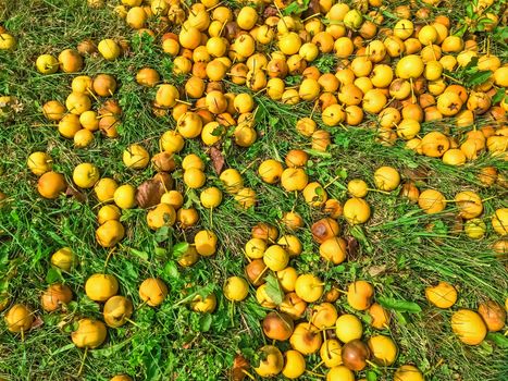
[[[380,7],[382,2],[370,4]],[[286,5],[281,3],[278,9]],[[485,3],[483,11],[491,5]],[[453,150],[444,158],[450,164],[472,160],[485,147],[495,155],[506,151],[503,121],[508,106],[504,99],[494,106],[492,98],[497,88],[508,86],[508,67],[495,54],[481,53],[474,39],[450,35],[447,16],[430,20],[426,10],[417,14],[420,20],[413,23],[410,8],[398,7],[400,20],[386,28],[379,10],[365,20],[360,11],[332,1],[320,1],[319,12],[305,20],[281,12],[262,20],[250,7],[234,14],[213,0],[195,3],[188,12],[181,7],[171,1],[123,1],[117,9],[124,10],[120,14],[137,30],[150,33],[147,25],[153,17],[181,25],[178,35],[163,36],[162,47],[174,57],[176,74],[191,75],[193,87],[199,83],[205,88],[199,79],[228,78],[285,103],[315,102],[323,123],[331,127],[359,125],[364,113],[377,115],[385,143],[400,137],[410,148],[431,157],[442,157],[450,144],[450,149],[460,146],[460,153]],[[321,73],[313,63],[329,53],[339,60],[338,67],[335,73]],[[463,69],[473,59],[478,59],[479,71],[492,72],[491,78],[472,90],[448,85],[451,77],[446,72]],[[302,75],[302,81],[286,88],[288,75]],[[422,122],[454,118],[458,127],[468,128],[485,114],[500,125],[484,131],[483,144],[468,140],[459,145],[441,134],[448,140],[443,146],[441,135],[418,137]],[[326,147],[324,131],[313,131],[315,123],[308,118],[299,123],[302,126],[297,130],[313,140],[324,135]]]

